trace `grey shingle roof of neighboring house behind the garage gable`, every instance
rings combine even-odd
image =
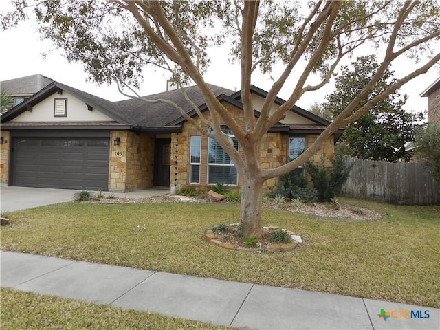
[[[16,79],[3,80],[0,88],[14,100],[14,107],[25,99],[30,98],[54,80],[41,74],[34,74]]]

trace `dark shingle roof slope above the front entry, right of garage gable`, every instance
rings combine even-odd
[[[230,95],[234,93],[234,91],[231,91],[230,89],[225,89],[216,85],[208,84],[208,86],[216,96],[219,96],[220,94]],[[205,99],[203,98],[199,87],[184,87],[184,91],[192,102],[197,104],[197,106],[205,103]],[[162,93],[144,96],[144,98],[147,98],[148,100],[170,100],[171,102],[178,104],[179,107],[186,111],[186,113],[193,109],[192,105],[186,100],[181,89],[164,91]],[[123,115],[124,118],[130,120],[131,124],[135,126],[159,127],[181,117],[181,113],[178,109],[175,109],[175,107],[164,102],[151,103],[135,98],[115,102],[115,104],[119,107],[120,115]]]

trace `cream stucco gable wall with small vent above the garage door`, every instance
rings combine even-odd
[[[67,98],[67,116],[54,117],[55,98]],[[52,94],[39,104],[35,104],[32,111],[24,111],[11,122],[107,122],[113,121],[108,115],[98,109],[87,110],[87,104],[72,94],[63,91],[63,94]]]

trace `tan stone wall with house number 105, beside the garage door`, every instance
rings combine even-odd
[[[120,145],[113,141],[120,138]],[[109,191],[127,192],[153,187],[154,137],[129,131],[110,132]]]

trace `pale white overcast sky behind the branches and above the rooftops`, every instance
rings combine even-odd
[[[0,1],[0,11],[5,10],[6,1]],[[124,100],[126,96],[119,93],[116,85],[96,85],[87,82],[83,65],[80,63],[69,63],[61,50],[56,50],[51,41],[42,40],[36,32],[36,23],[32,21],[22,22],[17,28],[7,31],[0,30],[1,45],[0,51],[0,81],[42,74],[60,83],[87,91],[90,94],[106,98],[107,100]],[[43,54],[47,53],[46,56]],[[369,54],[369,52],[368,52]],[[204,75],[205,81],[213,85],[219,85],[232,90],[240,89],[240,66],[239,64],[228,63],[227,50],[212,50],[212,65]],[[350,61],[343,63],[347,65]],[[396,78],[405,74],[408,67],[414,63],[409,60],[399,61],[393,66]],[[277,70],[275,70],[277,72]],[[279,71],[278,71],[279,72]],[[275,75],[276,76],[276,75]],[[408,94],[409,98],[404,109],[410,111],[426,111],[428,106],[427,98],[421,98],[420,94],[427,89],[440,76],[436,69],[432,68],[427,74],[423,74],[401,89],[402,94]],[[149,95],[166,91],[166,80],[170,78],[168,73],[162,73],[150,68],[144,72],[144,83],[142,83],[139,94]],[[311,77],[310,83],[316,83],[317,77]],[[256,73],[252,76],[252,84],[268,91],[272,81],[263,74]],[[305,94],[296,105],[303,109],[310,109],[314,102],[322,102],[325,96],[333,91],[333,86],[325,85],[322,89],[313,94]],[[289,82],[278,95],[281,98],[289,97]]]

